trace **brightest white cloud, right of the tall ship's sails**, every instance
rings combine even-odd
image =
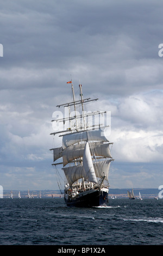
[[[162,135],[158,132],[111,131],[115,139],[112,155],[117,161],[122,162],[162,162]],[[157,148],[161,149],[156,150]]]

